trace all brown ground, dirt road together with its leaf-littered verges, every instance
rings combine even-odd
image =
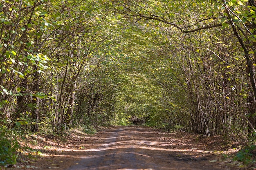
[[[28,145],[40,157],[10,169],[57,170],[234,170],[223,154],[237,149],[221,137],[166,133],[140,126],[111,126],[94,135],[72,130],[65,138],[33,136]],[[34,142],[34,143],[33,143]],[[31,144],[33,143],[33,145]],[[29,151],[23,152],[29,154]],[[21,155],[22,155],[21,154]],[[30,153],[31,154],[31,153]]]

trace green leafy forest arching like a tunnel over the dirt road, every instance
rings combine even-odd
[[[255,148],[256,2],[1,0],[0,164],[16,135],[108,124]]]

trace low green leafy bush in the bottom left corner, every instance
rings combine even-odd
[[[16,135],[13,131],[0,125],[0,166],[15,164],[20,148]]]

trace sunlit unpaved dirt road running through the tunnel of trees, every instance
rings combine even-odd
[[[217,161],[219,156],[206,151],[206,148],[200,144],[191,144],[187,141],[189,139],[186,138],[186,133],[183,135],[180,138],[177,136],[172,138],[170,134],[152,128],[112,126],[97,132],[96,137],[91,137],[90,141],[85,140],[85,143],[82,140],[80,144],[73,141],[73,146],[68,146],[73,147],[72,150],[63,150],[62,155],[52,158],[52,166],[48,164],[44,168],[63,170],[231,169],[225,163],[221,163],[222,161]],[[61,163],[56,166],[56,162]]]

